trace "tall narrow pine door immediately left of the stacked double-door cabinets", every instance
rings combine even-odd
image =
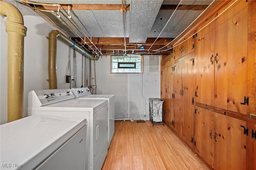
[[[194,104],[194,56],[183,60],[182,65],[182,138],[192,148]]]

